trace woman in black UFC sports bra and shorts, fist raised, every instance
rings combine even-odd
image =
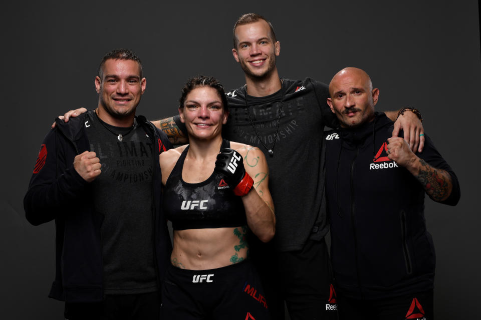
[[[163,210],[172,221],[164,319],[268,319],[246,233],[275,233],[268,166],[258,148],[221,136],[228,110],[212,77],[189,79],[179,99],[189,144],[160,154]]]

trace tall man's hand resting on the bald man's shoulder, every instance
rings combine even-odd
[[[386,112],[386,115],[392,119],[388,112]],[[411,150],[415,152],[417,149],[417,151],[421,152],[424,147],[424,128],[421,120],[414,112],[405,110],[403,114],[397,117],[394,122],[392,135],[398,136],[400,130],[403,130],[404,139],[409,143]]]

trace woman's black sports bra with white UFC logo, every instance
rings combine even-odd
[[[222,148],[230,147],[222,140]],[[172,221],[174,230],[234,227],[247,225],[244,204],[232,193],[224,175],[215,171],[207,180],[187,183],[182,180],[182,168],[187,146],[170,173],[163,191],[162,208]]]

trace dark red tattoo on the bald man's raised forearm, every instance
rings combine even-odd
[[[449,192],[449,176],[446,176],[446,172],[433,168],[423,159],[419,159],[419,162],[421,167],[416,178],[433,200],[444,200]]]

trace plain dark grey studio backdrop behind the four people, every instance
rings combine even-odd
[[[152,1],[153,2],[153,1]],[[244,84],[231,55],[236,18],[258,12],[281,41],[281,77],[329,82],[345,66],[365,69],[380,88],[378,109],[414,106],[456,171],[456,207],[426,200],[437,251],[438,319],[479,313],[479,174],[481,63],[478,3],[465,1],[31,1],[3,4],[4,145],[0,244],[4,319],[62,318],[47,297],[54,277],[54,223],[34,227],[23,211],[42,138],[54,117],[97,103],[94,77],[107,51],[128,47],[143,60],[147,90],[138,113],[173,115],[184,81],[219,78]],[[335,2],[335,3],[334,3]],[[387,3],[386,3],[387,2]]]

